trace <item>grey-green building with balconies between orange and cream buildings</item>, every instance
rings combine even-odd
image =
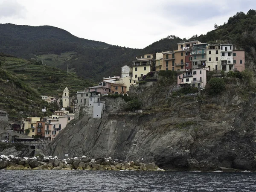
[[[194,44],[192,47],[192,69],[206,67],[206,48],[207,43]]]

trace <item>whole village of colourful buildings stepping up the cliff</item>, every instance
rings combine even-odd
[[[9,133],[1,134],[1,140],[34,140],[39,135],[41,140],[54,140],[66,125],[85,111],[92,118],[101,118],[108,111],[108,103],[102,96],[128,95],[132,86],[146,82],[149,73],[160,70],[177,71],[177,87],[192,86],[203,89],[207,84],[207,72],[214,71],[216,76],[229,71],[244,70],[244,50],[234,49],[232,44],[208,44],[200,41],[180,42],[177,50],[145,54],[132,61],[130,66],[123,66],[121,76],[103,77],[98,85],[78,90],[76,96],[70,96],[68,87],[61,98],[41,96],[48,103],[56,103],[61,110],[54,111],[48,117],[22,118],[20,127],[12,130],[20,134],[12,137]],[[70,108],[73,113],[70,113]],[[118,108],[116,108],[118,109]],[[46,112],[47,109],[42,109]],[[7,117],[5,111],[1,116]],[[10,137],[11,136],[11,137]],[[24,136],[24,137],[23,137]]]

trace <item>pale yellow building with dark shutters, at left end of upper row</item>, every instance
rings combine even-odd
[[[152,54],[144,55],[144,58],[137,58],[132,64],[133,79],[142,80],[142,77],[148,72],[152,71],[154,67],[154,60]]]

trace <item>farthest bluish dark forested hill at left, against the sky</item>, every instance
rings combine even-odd
[[[78,38],[53,26],[0,24],[0,52],[23,58],[36,54],[76,52],[83,47],[105,48],[100,41]]]

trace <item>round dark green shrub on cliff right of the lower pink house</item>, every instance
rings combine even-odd
[[[206,86],[206,90],[210,95],[217,95],[225,90],[225,81],[222,78],[212,78]]]

